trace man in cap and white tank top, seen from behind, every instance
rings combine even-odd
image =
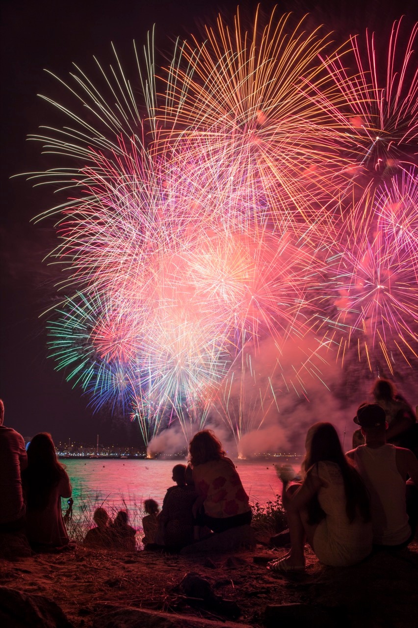
[[[414,538],[417,524],[418,460],[409,449],[386,442],[385,411],[377,403],[361,404],[354,422],[366,442],[346,456],[370,494],[373,543],[403,548]]]

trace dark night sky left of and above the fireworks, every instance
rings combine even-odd
[[[265,11],[275,3],[262,3]],[[384,3],[369,0],[318,0],[278,3],[301,14],[311,10],[318,23],[344,31],[387,23],[402,12],[416,9],[416,2]],[[395,4],[395,6],[393,6]],[[242,3],[254,13],[255,2]],[[54,273],[43,257],[54,246],[51,224],[29,222],[54,204],[51,188],[33,189],[24,177],[10,176],[45,170],[40,144],[26,141],[41,124],[55,115],[36,94],[57,95],[57,85],[44,68],[65,78],[72,62],[92,68],[92,56],[111,60],[110,42],[127,64],[133,60],[132,40],[145,42],[147,30],[157,24],[157,43],[171,50],[176,36],[198,32],[214,21],[219,10],[233,14],[235,2],[202,0],[3,0],[2,4],[2,210],[1,210],[1,372],[0,395],[6,405],[6,425],[24,436],[50,431],[55,441],[123,441],[126,433],[112,428],[105,416],[92,416],[88,398],[72,389],[62,372],[47,359],[45,322],[39,318],[53,302]],[[385,10],[384,10],[385,9]],[[60,92],[61,95],[64,92]]]

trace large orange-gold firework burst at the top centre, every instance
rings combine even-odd
[[[220,17],[217,28],[206,28],[205,43],[181,46],[160,122],[170,144],[188,138],[203,172],[215,169],[213,161],[226,168],[223,187],[233,195],[242,190],[248,220],[259,221],[268,208],[279,229],[298,230],[312,225],[321,201],[326,217],[341,171],[338,134],[303,91],[309,84],[312,94],[327,93],[318,55],[329,37],[307,33],[305,19],[292,26],[289,15],[276,19],[273,12],[264,28],[261,21],[257,12],[249,33],[238,14],[234,29]],[[233,224],[242,220],[242,203],[237,207]]]

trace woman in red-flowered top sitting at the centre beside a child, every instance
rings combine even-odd
[[[212,430],[195,434],[189,444],[193,482],[198,499],[193,511],[196,522],[213,532],[249,525],[252,512],[232,460]]]

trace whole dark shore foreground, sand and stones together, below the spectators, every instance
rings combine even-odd
[[[304,573],[267,571],[265,563],[285,551],[257,545],[227,555],[178,556],[76,546],[6,559],[0,622],[8,628],[417,625],[416,541],[348,568],[323,566],[308,553]],[[185,587],[188,574],[200,589]]]

